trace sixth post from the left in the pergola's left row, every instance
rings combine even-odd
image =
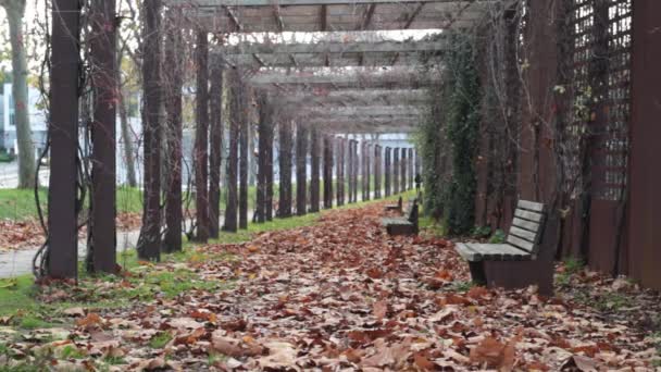
[[[180,89],[179,89],[180,90]],[[219,237],[221,225],[221,166],[223,158],[223,69],[221,61],[211,66],[210,134],[211,150],[209,159],[209,236]]]

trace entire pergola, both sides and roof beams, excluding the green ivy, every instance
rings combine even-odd
[[[145,211],[140,258],[158,260],[161,251],[182,249],[184,86],[195,90],[196,106],[191,188],[196,215],[195,228],[189,233],[191,238],[207,241],[222,231],[247,226],[252,158],[258,163],[258,222],[356,202],[359,188],[363,200],[412,188],[414,175],[423,166],[429,170],[429,165],[422,163],[412,144],[390,146],[383,138],[412,135],[423,121],[438,114],[431,100],[448,74],[442,61],[453,48],[451,35],[471,30],[482,40],[483,84],[494,88],[494,82],[500,78],[489,75],[494,69],[483,55],[503,45],[507,48],[496,70],[513,79],[495,89],[525,92],[508,96],[510,101],[499,113],[508,116],[511,138],[506,139],[516,142],[508,145],[510,152],[497,151],[507,142],[499,137],[502,121],[484,115],[481,123],[478,153],[471,159],[477,178],[475,224],[507,230],[504,221],[511,220],[508,215],[519,197],[548,203],[554,212],[547,236],[553,238],[545,244],[553,245],[559,256],[583,255],[596,269],[631,274],[648,286],[661,287],[661,274],[648,263],[661,260],[661,230],[651,222],[661,210],[659,194],[653,191],[661,186],[661,178],[649,165],[649,159],[660,154],[650,140],[658,138],[654,120],[661,110],[654,90],[661,77],[658,69],[650,69],[661,63],[661,54],[656,52],[661,48],[653,47],[661,42],[661,33],[650,32],[661,28],[659,20],[650,15],[661,12],[659,2],[572,0],[550,7],[544,0],[529,0],[525,12],[521,11],[522,3],[145,1]],[[90,256],[93,271],[113,272],[115,153],[102,144],[115,140],[115,108],[103,98],[104,89],[112,92],[111,84],[99,82],[116,74],[116,63],[110,62],[114,61],[115,42],[111,40],[116,30],[109,26],[115,4],[113,0],[91,4],[98,16],[92,26],[98,27],[97,36],[101,37],[91,53],[99,66],[99,78],[93,84],[99,85],[95,88],[100,94],[95,96],[98,102],[91,114],[97,140],[91,194],[97,202],[89,221]],[[79,40],[75,38],[80,29],[79,11],[76,0],[53,0],[51,62],[57,74],[51,82],[49,214],[61,218],[49,220],[42,273],[51,277],[77,275],[80,203],[75,149],[82,62]],[[485,25],[494,24],[506,25],[507,30],[485,34]],[[593,40],[586,36],[589,33],[597,41],[582,44]],[[526,52],[517,54],[522,46]],[[610,53],[608,66],[589,58],[602,52]],[[569,156],[570,150],[583,146],[572,134],[583,133],[581,128],[591,122],[572,116],[572,108],[579,98],[578,83],[585,83],[585,88],[598,79],[601,84],[595,87],[610,85],[604,95],[612,99],[609,104],[590,109],[594,122],[607,129],[589,138],[600,145],[590,150],[595,161],[582,168],[574,161],[577,154]],[[568,94],[563,96],[562,91]],[[614,112],[620,116],[615,117]],[[553,125],[562,127],[556,131]],[[551,126],[553,129],[549,129]],[[624,138],[619,141],[614,136]],[[564,158],[558,157],[558,144],[566,145],[562,147]],[[618,151],[620,154],[614,153]],[[439,151],[439,164],[446,165],[433,170],[439,177],[451,172],[444,153]],[[598,163],[599,153],[610,153],[610,163]],[[163,166],[164,162],[170,166]],[[503,177],[497,170],[504,168],[511,182],[495,190],[496,177]],[[594,187],[583,194],[568,191],[566,185],[560,185],[566,179],[557,176],[576,169],[585,172],[582,179],[595,181]],[[618,172],[622,176],[613,175]],[[225,211],[219,207],[222,188],[227,190]],[[224,225],[220,226],[222,212]],[[586,220],[586,213],[594,219]],[[604,231],[609,233],[602,234]]]

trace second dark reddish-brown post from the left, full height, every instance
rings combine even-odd
[[[93,122],[91,203],[88,239],[90,272],[116,271],[115,244],[115,115],[117,82],[115,55],[115,1],[91,2],[92,29],[98,37],[91,40],[93,73]]]

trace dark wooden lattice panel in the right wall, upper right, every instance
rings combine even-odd
[[[626,187],[631,112],[632,0],[574,0],[572,113],[564,128],[566,191],[583,191],[591,149],[593,197],[620,200]]]

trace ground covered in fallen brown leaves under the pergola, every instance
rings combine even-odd
[[[382,206],[40,292],[50,327],[0,323],[0,364],[35,370],[649,371],[659,297],[560,266],[558,294],[470,284],[450,241],[388,237]],[[114,303],[113,301],[117,302]],[[25,319],[22,321],[25,322]],[[25,325],[25,324],[23,324]],[[0,368],[1,370],[1,368]]]

